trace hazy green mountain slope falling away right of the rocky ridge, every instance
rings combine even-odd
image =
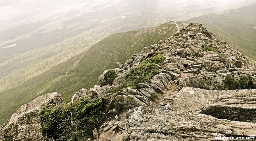
[[[197,22],[216,37],[227,41],[244,55],[256,60],[256,6],[245,6],[228,12],[209,14],[183,21]]]

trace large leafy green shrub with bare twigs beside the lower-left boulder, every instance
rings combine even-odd
[[[101,98],[82,98],[76,103],[50,104],[40,113],[42,131],[47,140],[83,141],[92,137],[92,130],[104,116]]]

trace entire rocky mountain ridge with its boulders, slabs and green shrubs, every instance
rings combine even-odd
[[[256,136],[255,70],[252,59],[190,23],[117,62],[70,103],[49,93],[23,105],[1,126],[0,139],[249,139]]]

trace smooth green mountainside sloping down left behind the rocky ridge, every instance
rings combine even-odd
[[[185,27],[181,22],[176,23]],[[21,105],[46,93],[59,92],[64,95],[65,101],[69,101],[79,89],[93,87],[100,74],[114,68],[116,62],[126,61],[143,47],[174,35],[178,31],[176,23],[110,35],[85,52],[0,93],[0,124]]]

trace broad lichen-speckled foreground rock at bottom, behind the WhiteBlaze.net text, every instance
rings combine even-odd
[[[217,119],[194,112],[142,106],[129,116],[124,141],[196,141],[214,137],[255,137],[256,124]]]

